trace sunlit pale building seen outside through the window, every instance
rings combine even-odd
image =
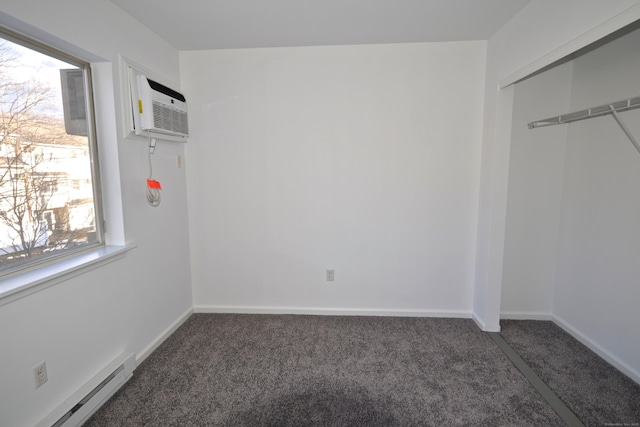
[[[0,266],[95,240],[88,158],[62,124],[0,133]]]

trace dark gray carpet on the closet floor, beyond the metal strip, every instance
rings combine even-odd
[[[553,322],[503,320],[500,334],[587,426],[640,426],[640,385]]]

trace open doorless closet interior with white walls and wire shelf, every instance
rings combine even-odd
[[[502,318],[640,380],[640,30],[516,83]]]

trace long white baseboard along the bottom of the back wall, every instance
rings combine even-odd
[[[244,305],[196,305],[195,313],[235,314],[301,314],[319,316],[389,316],[389,317],[445,317],[470,319],[465,310],[410,310],[386,308],[324,308],[324,307],[268,307]]]

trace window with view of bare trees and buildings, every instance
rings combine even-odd
[[[89,64],[0,28],[0,276],[102,244],[93,123]]]

